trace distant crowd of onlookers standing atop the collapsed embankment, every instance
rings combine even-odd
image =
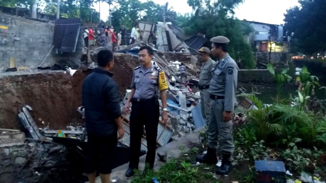
[[[126,29],[123,24],[121,25],[119,32],[115,31],[113,26],[105,26],[98,32],[99,36],[96,37],[93,28],[87,27],[84,29],[83,37],[86,48],[98,45],[108,49],[108,47],[112,45],[112,51],[115,52],[120,45],[133,44],[142,39],[138,24],[135,24],[131,29],[130,39],[128,41],[126,41]]]

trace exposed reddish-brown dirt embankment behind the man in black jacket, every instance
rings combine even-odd
[[[117,54],[114,79],[122,95],[129,88],[137,57]],[[83,123],[77,107],[82,104],[82,85],[91,71],[78,70],[73,76],[59,72],[26,74],[0,78],[0,128],[21,129],[18,110],[25,104],[38,127],[65,128]],[[42,124],[45,122],[45,125]]]

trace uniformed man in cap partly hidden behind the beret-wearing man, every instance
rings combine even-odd
[[[209,110],[210,110],[210,97],[209,97],[209,82],[212,76],[211,71],[214,69],[215,61],[210,58],[210,50],[207,47],[201,47],[199,50],[200,57],[203,59],[203,66],[199,73],[198,88],[200,89],[200,104],[203,118],[206,125],[209,122]]]

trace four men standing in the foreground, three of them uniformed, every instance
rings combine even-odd
[[[210,41],[211,50],[207,47],[198,50],[204,62],[200,71],[199,89],[202,113],[208,125],[208,147],[207,154],[197,156],[196,160],[215,164],[216,151],[219,151],[223,160],[216,173],[227,175],[232,169],[230,156],[234,150],[232,113],[238,67],[227,52],[228,38],[218,36]],[[218,58],[216,63],[210,58],[210,54]],[[166,92],[169,86],[165,72],[151,62],[153,49],[150,46],[141,47],[138,56],[140,66],[134,68],[131,92],[122,111],[118,86],[112,78],[111,70],[114,67],[112,51],[106,49],[99,51],[98,68],[84,80],[82,99],[88,136],[85,171],[91,183],[95,182],[96,173],[100,174],[102,183],[110,182],[117,140],[124,136],[122,113],[130,113],[130,162],[125,176],[131,177],[139,168],[144,127],[148,151],[143,173],[146,174],[154,167],[159,116],[161,115],[162,119],[160,123],[163,125],[168,123]]]

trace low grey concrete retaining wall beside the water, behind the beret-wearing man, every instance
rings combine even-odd
[[[238,82],[273,83],[274,79],[267,69],[240,69]]]

